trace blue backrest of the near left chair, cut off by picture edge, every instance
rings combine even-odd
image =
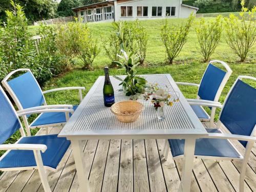
[[[4,143],[22,125],[15,113],[15,110],[0,86],[0,144]]]

